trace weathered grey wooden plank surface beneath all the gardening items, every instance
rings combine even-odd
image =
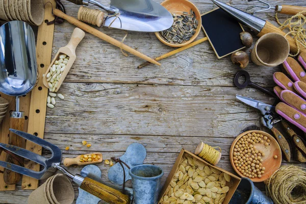
[[[67,14],[77,17],[78,6],[62,2]],[[109,4],[106,0],[99,2]],[[201,13],[216,7],[209,0],[192,2]],[[267,2],[306,6],[302,0]],[[230,3],[242,10],[254,4],[246,0]],[[276,25],[272,10],[256,15]],[[289,17],[278,16],[281,21]],[[67,22],[56,25],[53,56],[67,44],[73,29]],[[100,31],[117,40],[125,35],[114,29]],[[202,37],[203,33],[197,39]],[[152,58],[173,50],[153,33],[129,32],[124,43]],[[147,150],[145,163],[164,169],[164,183],[181,148],[194,151],[199,141],[220,146],[222,158],[218,166],[234,172],[228,156],[234,139],[245,130],[269,132],[260,124],[260,113],[239,103],[235,96],[241,94],[268,104],[273,104],[274,99],[252,88],[234,87],[239,67],[232,64],[230,57],[218,60],[208,42],[162,60],[160,67],[149,65],[142,69],[136,68],[143,62],[141,59],[124,57],[120,49],[90,34],[86,34],[76,54],[77,60],[59,90],[65,99],[57,99],[56,108],[48,108],[46,113],[44,139],[62,149],[63,159],[95,151],[101,152],[104,159],[119,157],[127,146],[139,142]],[[281,68],[259,67],[250,62],[245,70],[253,82],[272,90],[272,74]],[[92,146],[84,147],[82,140]],[[70,150],[64,150],[66,146]],[[42,154],[49,156],[45,150]],[[292,164],[306,167],[294,161]],[[97,166],[103,181],[108,183],[109,166],[101,163]],[[67,169],[80,173],[82,166]],[[263,184],[256,185],[264,190]],[[18,184],[16,191],[0,192],[0,203],[26,203],[31,191],[20,188]],[[77,196],[78,189],[74,189]]]

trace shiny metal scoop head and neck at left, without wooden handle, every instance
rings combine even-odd
[[[23,21],[10,21],[0,27],[0,91],[16,96],[30,92],[36,83],[37,62],[35,36]]]

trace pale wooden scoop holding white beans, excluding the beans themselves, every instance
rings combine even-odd
[[[77,56],[75,55],[75,48],[77,48],[77,46],[79,45],[81,40],[84,38],[84,36],[85,36],[85,32],[84,31],[82,31],[79,28],[75,28],[74,29],[69,43],[66,46],[61,47],[58,50],[57,54],[55,55],[55,58],[53,59],[53,61],[50,64],[50,66],[48,67],[46,73],[44,74],[43,84],[45,85],[45,87],[49,88],[46,76],[49,73],[50,68],[54,65],[54,62],[59,60],[60,55],[67,55],[67,57],[69,57],[69,60],[68,60],[68,63],[66,65],[66,68],[62,72],[62,77],[58,81],[58,86],[55,89],[55,92],[57,92],[59,90],[59,88],[61,87],[64,79],[66,78],[67,73],[69,72],[71,66],[73,65],[75,59],[77,59]]]

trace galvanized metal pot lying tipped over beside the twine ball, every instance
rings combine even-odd
[[[253,182],[242,177],[230,204],[273,204],[273,201],[256,188]]]

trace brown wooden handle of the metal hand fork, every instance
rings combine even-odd
[[[130,197],[120,191],[85,177],[81,189],[91,193],[110,204],[128,204]]]

